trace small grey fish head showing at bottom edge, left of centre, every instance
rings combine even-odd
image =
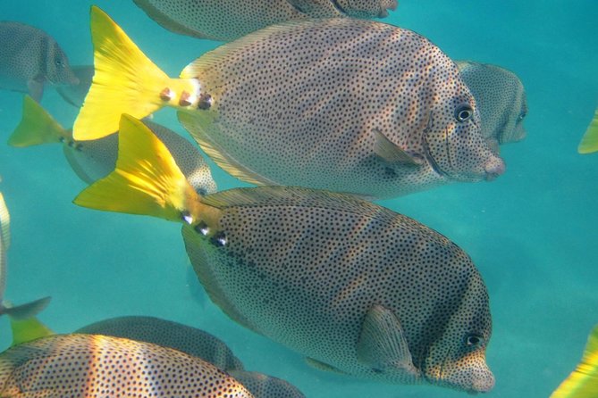
[[[229,374],[256,398],[305,398],[296,386],[282,378],[247,370],[231,370]]]

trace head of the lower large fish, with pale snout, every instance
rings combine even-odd
[[[437,386],[472,394],[489,392],[494,376],[486,364],[485,352],[491,334],[488,294],[477,276],[442,329],[442,336],[431,344],[422,365],[424,377]]]

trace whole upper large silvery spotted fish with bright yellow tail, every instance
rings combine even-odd
[[[375,199],[505,170],[454,62],[407,29],[340,18],[278,25],[170,79],[95,6],[91,28],[96,74],[76,139],[118,129],[122,113],[173,106],[208,156],[257,185]]]

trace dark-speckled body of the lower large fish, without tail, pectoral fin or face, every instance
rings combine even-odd
[[[344,372],[392,382],[414,379],[399,369],[377,372],[357,358],[362,323],[375,304],[400,320],[424,375],[431,358],[451,369],[449,354],[460,351],[468,331],[489,337],[484,283],[447,238],[352,197],[283,192],[289,195],[218,206],[224,246],[183,228],[199,279],[233,319]],[[218,195],[206,199],[217,203]],[[463,319],[452,346],[436,349],[448,350],[436,358],[431,347],[458,313]]]

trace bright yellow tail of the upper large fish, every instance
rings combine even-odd
[[[91,7],[95,74],[73,127],[76,140],[105,137],[122,113],[141,119],[193,97],[197,79],[171,79],[97,6]]]

